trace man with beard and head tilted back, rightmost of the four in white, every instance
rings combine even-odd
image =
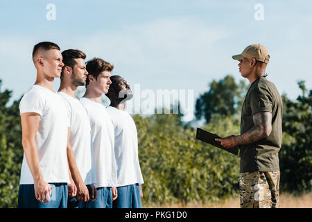
[[[144,183],[139,164],[137,128],[130,114],[125,111],[125,101],[132,99],[130,85],[121,76],[111,77],[112,85],[106,94],[111,101],[107,112],[112,117],[115,135],[118,198],[115,208],[141,208]]]

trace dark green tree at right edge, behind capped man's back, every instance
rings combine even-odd
[[[283,95],[283,142],[280,151],[281,188],[297,194],[312,189],[312,90],[306,96],[304,81],[298,82],[302,96],[297,101]]]

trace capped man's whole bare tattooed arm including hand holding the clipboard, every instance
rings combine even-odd
[[[246,133],[238,136],[229,136],[223,139],[217,138],[216,141],[221,142],[225,148],[233,148],[237,145],[252,144],[261,139],[264,139],[272,132],[272,113],[270,112],[257,112],[252,116],[254,127]]]

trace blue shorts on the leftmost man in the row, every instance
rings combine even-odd
[[[18,208],[67,208],[67,183],[49,183],[51,196],[49,203],[42,203],[35,198],[34,185],[19,185]]]

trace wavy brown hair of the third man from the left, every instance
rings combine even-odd
[[[106,62],[101,58],[92,58],[92,60],[87,61],[86,65],[87,72],[89,75],[92,75],[95,79],[98,79],[98,75],[100,75],[103,71],[112,71],[114,69],[114,65],[110,64],[110,62]],[[89,78],[87,78],[87,83],[85,86],[89,84]]]

